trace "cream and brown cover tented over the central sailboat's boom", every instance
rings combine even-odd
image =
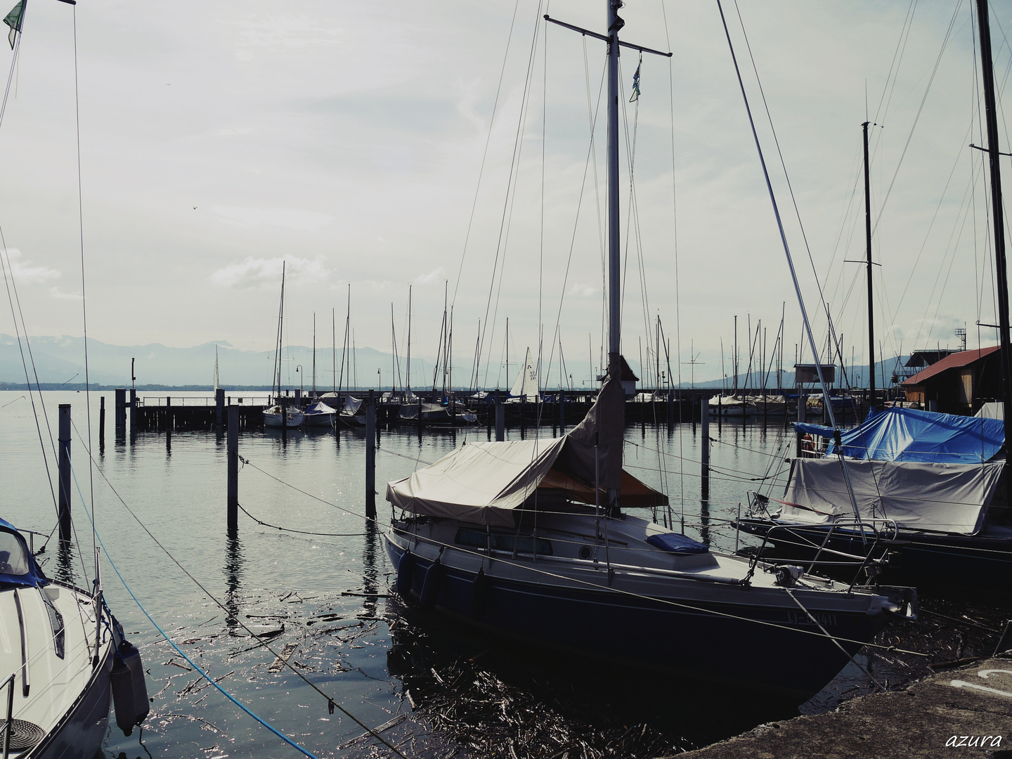
[[[587,417],[569,434],[550,440],[461,445],[410,477],[388,483],[387,500],[417,514],[502,526],[513,526],[511,510],[538,490],[604,505],[605,489],[614,488],[620,505],[664,505],[666,496],[621,469],[623,415],[621,385],[609,378]],[[595,441],[599,448],[597,492],[593,485]]]

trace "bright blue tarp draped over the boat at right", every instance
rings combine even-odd
[[[833,428],[795,422],[794,429],[832,439]],[[917,409],[886,409],[840,433],[843,454],[882,461],[981,463],[1005,442],[1004,422]],[[830,443],[826,455],[836,453]]]

